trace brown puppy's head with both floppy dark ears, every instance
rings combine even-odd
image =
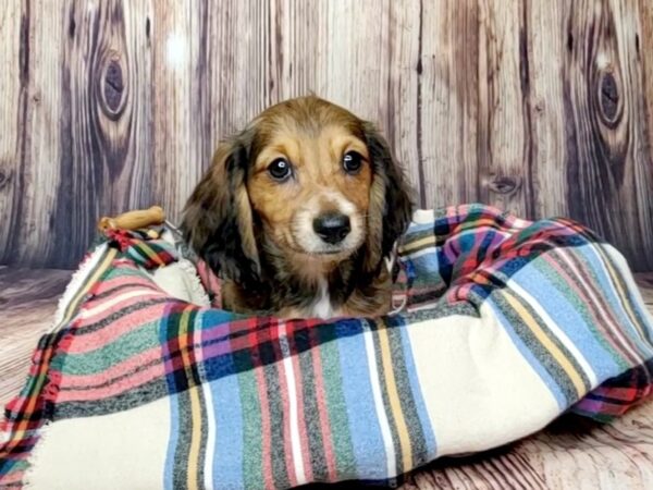
[[[267,109],[220,145],[183,228],[209,266],[254,285],[263,244],[288,264],[361,254],[365,271],[375,272],[410,211],[402,173],[373,126],[305,97]]]

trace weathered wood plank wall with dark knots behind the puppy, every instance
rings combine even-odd
[[[173,220],[221,136],[312,91],[378,122],[422,207],[566,215],[653,269],[651,0],[4,0],[0,264]]]

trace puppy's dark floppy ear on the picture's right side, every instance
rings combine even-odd
[[[397,238],[408,228],[412,203],[406,179],[392,157],[387,142],[371,123],[365,122],[362,130],[372,166],[364,265],[366,272],[377,273],[382,259],[391,255]]]

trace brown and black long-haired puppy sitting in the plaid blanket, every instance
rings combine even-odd
[[[380,316],[411,203],[374,127],[317,97],[273,106],[222,143],[182,229],[223,306],[281,318]]]

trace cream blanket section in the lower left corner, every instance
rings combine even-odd
[[[32,456],[27,488],[162,488],[161,468],[170,437],[170,425],[162,420],[170,420],[168,399],[112,415],[51,424]]]

